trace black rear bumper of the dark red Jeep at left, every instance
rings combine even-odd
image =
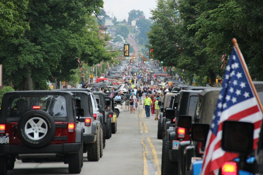
[[[0,155],[37,154],[37,153],[77,153],[82,143],[64,143],[60,145],[47,145],[43,148],[29,148],[25,145],[0,145]]]

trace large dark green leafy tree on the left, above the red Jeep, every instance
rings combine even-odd
[[[99,7],[102,0],[30,1],[24,14],[30,30],[0,42],[4,83],[12,81],[19,90],[45,89],[47,80],[68,81],[78,67],[76,57],[88,65],[109,60],[91,16]]]

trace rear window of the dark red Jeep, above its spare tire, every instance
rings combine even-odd
[[[51,116],[67,117],[66,99],[60,95],[13,96],[8,103],[7,117],[21,117],[33,106]]]

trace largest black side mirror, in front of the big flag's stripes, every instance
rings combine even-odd
[[[253,150],[253,136],[253,123],[225,121],[222,131],[222,149],[247,155]]]

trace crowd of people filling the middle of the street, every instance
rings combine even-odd
[[[158,81],[153,73],[144,64],[136,64],[135,72],[131,65],[124,66],[123,83],[127,90],[125,94],[125,110],[131,114],[138,113],[138,105],[145,109],[146,119],[155,115],[155,120],[159,120],[160,106],[158,102],[163,102],[164,93],[168,91],[167,87],[162,88],[160,80]],[[115,98],[116,99],[116,98]]]

